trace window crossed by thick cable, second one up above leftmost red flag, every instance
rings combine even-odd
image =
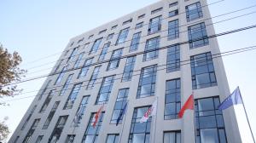
[[[114,70],[119,67],[119,62],[121,60],[120,58],[122,56],[122,52],[123,52],[123,49],[116,49],[113,51],[110,61],[108,63],[107,71]]]

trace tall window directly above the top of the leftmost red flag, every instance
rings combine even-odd
[[[113,86],[114,76],[104,77],[101,89],[97,95],[96,105],[106,104]]]

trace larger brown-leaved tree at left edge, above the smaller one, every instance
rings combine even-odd
[[[21,91],[16,85],[11,84],[25,77],[26,70],[20,69],[21,61],[17,52],[9,54],[9,51],[3,49],[3,45],[0,44],[0,97],[14,96]]]

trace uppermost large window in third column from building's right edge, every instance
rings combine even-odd
[[[149,20],[148,34],[154,34],[161,30],[161,19],[162,16],[157,16]]]

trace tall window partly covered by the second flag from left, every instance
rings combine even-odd
[[[129,88],[119,89],[119,94],[113,107],[113,115],[110,123],[117,123],[117,119],[119,118],[120,112],[122,112],[122,110],[125,109],[128,93],[129,93]],[[123,120],[123,116],[120,117],[119,123],[122,123],[122,120]]]

